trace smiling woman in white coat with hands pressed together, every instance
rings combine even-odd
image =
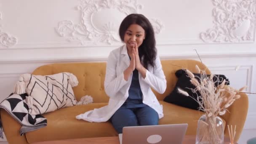
[[[108,57],[104,88],[109,104],[77,116],[90,122],[111,120],[117,133],[124,126],[157,125],[163,117],[158,93],[166,89],[165,75],[155,48],[155,35],[149,20],[130,14],[122,21],[119,35],[125,45]]]

